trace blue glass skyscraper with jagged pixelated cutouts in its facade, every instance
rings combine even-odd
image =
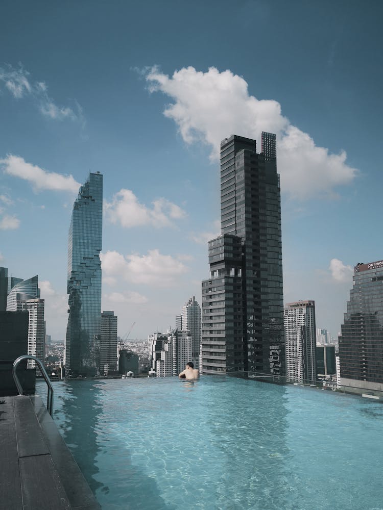
[[[103,176],[90,173],[74,203],[68,236],[65,375],[94,376],[100,366]]]

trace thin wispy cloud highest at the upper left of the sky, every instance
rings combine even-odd
[[[77,101],[73,101],[74,108],[59,107],[55,101],[48,95],[48,87],[45,82],[31,82],[30,73],[21,65],[15,69],[11,65],[5,68],[0,67],[0,82],[3,82],[6,89],[15,99],[22,97],[32,97],[40,112],[54,120],[70,119],[80,121],[84,125],[82,109]]]

